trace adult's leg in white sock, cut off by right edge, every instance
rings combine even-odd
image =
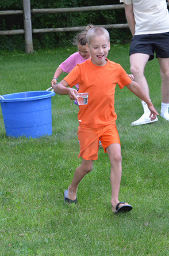
[[[161,116],[169,121],[169,58],[158,58],[160,64],[160,75],[162,77],[162,107]]]

